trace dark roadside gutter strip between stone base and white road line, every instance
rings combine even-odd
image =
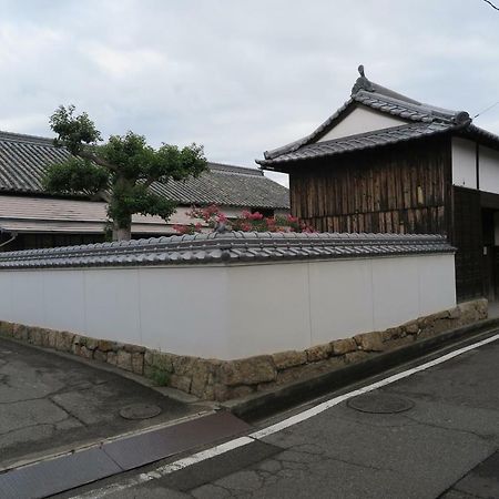
[[[379,354],[376,357],[330,373],[284,385],[272,391],[221,403],[220,406],[245,420],[267,417],[279,410],[320,397],[332,390],[344,388],[405,363],[416,360],[425,355],[452,347],[457,343],[472,343],[478,336],[491,336],[497,328],[499,328],[499,318],[480,320]]]

